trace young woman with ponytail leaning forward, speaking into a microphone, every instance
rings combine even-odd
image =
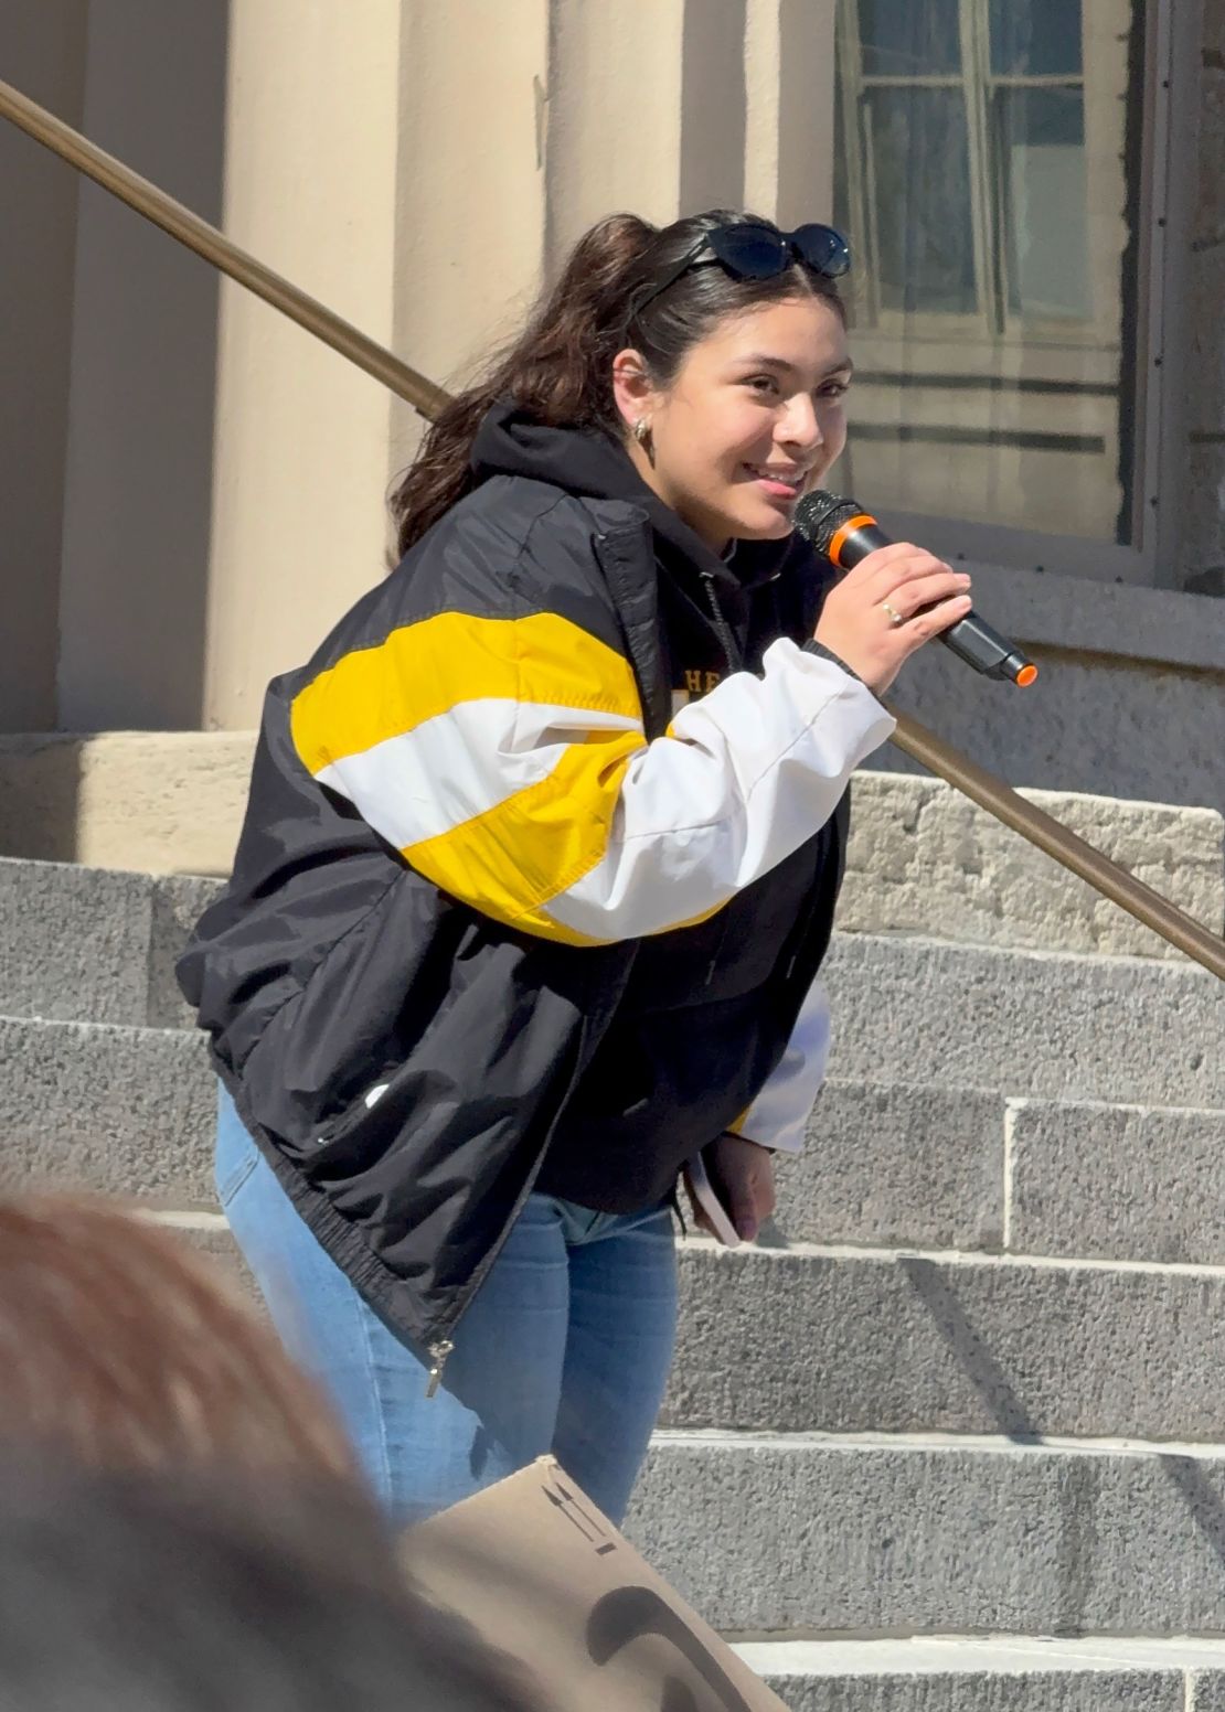
[[[877,695],[970,606],[792,534],[843,449],[824,226],[617,216],[396,493],[403,560],[267,695],[180,966],[218,1185],[385,1501],[553,1452],[620,1520],[702,1159],[738,1233],[821,1082]]]

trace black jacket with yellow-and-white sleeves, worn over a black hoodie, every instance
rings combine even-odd
[[[846,782],[891,729],[802,647],[798,538],[726,563],[613,442],[509,407],[473,462],[269,687],[180,962],[300,1214],[435,1349],[536,1181],[629,1210],[725,1128],[792,1144]]]

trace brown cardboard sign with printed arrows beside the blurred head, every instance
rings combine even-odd
[[[552,1457],[409,1529],[404,1558],[538,1712],[786,1712]]]

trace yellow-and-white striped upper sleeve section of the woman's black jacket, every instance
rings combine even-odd
[[[312,776],[444,892],[523,931],[600,943],[541,906],[603,858],[646,743],[613,649],[553,613],[442,613],[320,673],[291,733]]]

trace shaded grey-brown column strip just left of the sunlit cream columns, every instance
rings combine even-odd
[[[86,134],[212,221],[221,212],[224,67],[221,3],[89,7]],[[211,267],[106,192],[81,185],[62,728],[199,722],[216,305]]]

